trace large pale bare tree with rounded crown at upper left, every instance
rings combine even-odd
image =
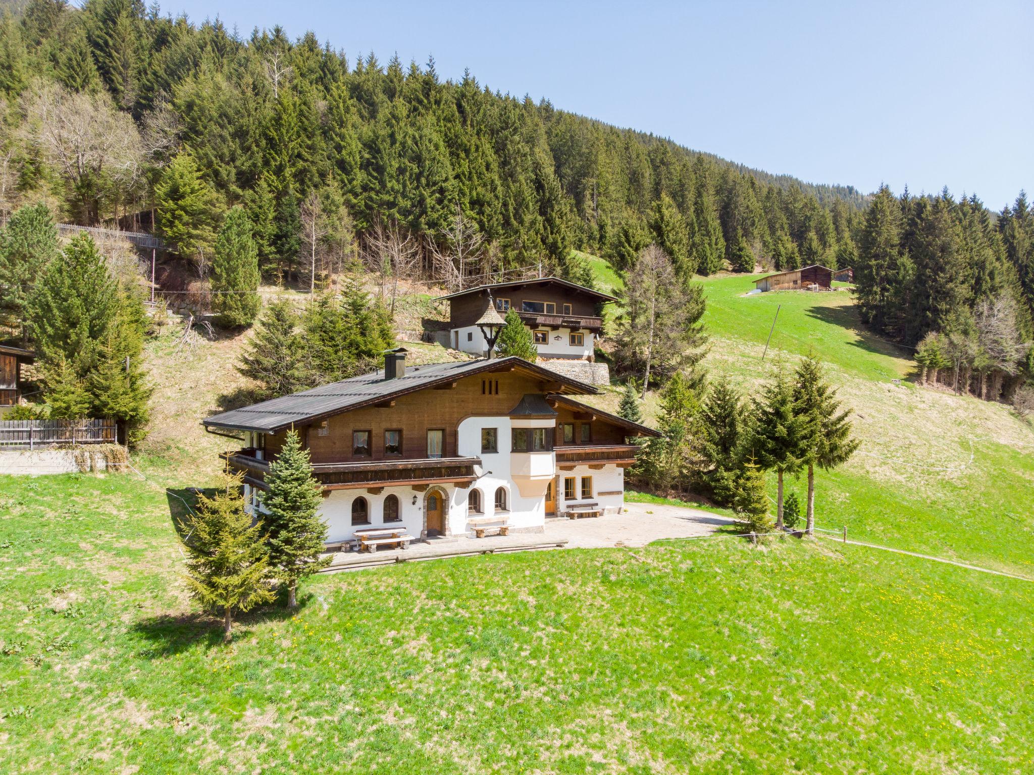
[[[83,208],[81,220],[97,222],[102,189],[131,188],[140,176],[145,147],[132,118],[117,111],[107,92],[37,84],[23,99],[28,140],[65,179]]]

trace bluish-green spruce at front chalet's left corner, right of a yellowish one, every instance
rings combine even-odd
[[[327,567],[321,558],[327,525],[316,512],[323,502],[318,483],[312,477],[309,451],[303,450],[298,433],[291,431],[266,476],[269,490],[263,494],[263,522],[269,530],[269,563],[287,588],[287,606],[295,608],[298,581]]]

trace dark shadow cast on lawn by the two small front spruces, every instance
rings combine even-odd
[[[286,607],[287,594],[281,591],[273,606],[237,613],[234,616],[234,640],[247,637],[248,629],[265,622],[284,622],[293,618],[315,599],[311,594],[299,594],[298,607]],[[159,614],[134,622],[132,631],[149,646],[142,655],[148,658],[174,656],[193,648],[210,649],[223,645],[222,616],[214,613]]]

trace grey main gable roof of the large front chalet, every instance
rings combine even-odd
[[[562,374],[557,374],[515,355],[481,361],[453,361],[426,366],[406,366],[405,375],[385,379],[384,371],[363,374],[340,382],[330,382],[312,390],[273,398],[240,409],[231,409],[205,419],[208,428],[276,433],[293,424],[308,424],[349,409],[387,401],[395,396],[415,393],[435,384],[485,371],[529,371],[543,379],[557,382],[574,393],[594,394],[597,389]]]

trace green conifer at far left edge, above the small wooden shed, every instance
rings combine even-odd
[[[42,203],[16,210],[0,231],[0,322],[19,330],[24,344],[32,289],[59,253],[57,226]]]

